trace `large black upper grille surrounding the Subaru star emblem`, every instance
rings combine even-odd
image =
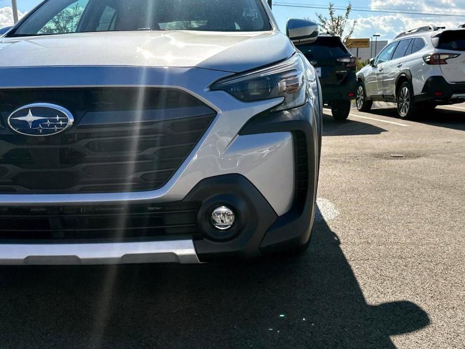
[[[14,133],[8,116],[32,103],[68,109],[62,134]],[[216,113],[182,91],[153,88],[0,91],[0,193],[73,194],[161,188]]]

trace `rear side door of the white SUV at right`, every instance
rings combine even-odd
[[[404,65],[404,56],[413,39],[400,40],[394,49],[390,60],[384,63],[383,69],[383,96],[394,98],[396,92],[396,79]]]

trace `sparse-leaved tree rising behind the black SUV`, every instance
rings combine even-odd
[[[352,4],[349,3],[349,5],[347,5],[344,15],[336,15],[333,3],[329,3],[328,11],[329,18],[324,17],[322,14],[316,14],[320,29],[323,32],[329,32],[332,35],[339,36],[343,40],[344,44],[347,44],[347,39],[352,36],[357,24],[356,20],[349,20],[349,15],[352,11]]]

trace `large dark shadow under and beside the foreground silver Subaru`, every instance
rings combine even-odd
[[[324,220],[301,257],[1,268],[0,347],[391,348],[428,315],[368,305]]]

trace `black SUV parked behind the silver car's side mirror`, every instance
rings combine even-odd
[[[314,43],[298,45],[298,49],[318,73],[323,104],[331,107],[336,120],[347,119],[357,91],[356,58],[340,37],[332,35],[320,35]]]

